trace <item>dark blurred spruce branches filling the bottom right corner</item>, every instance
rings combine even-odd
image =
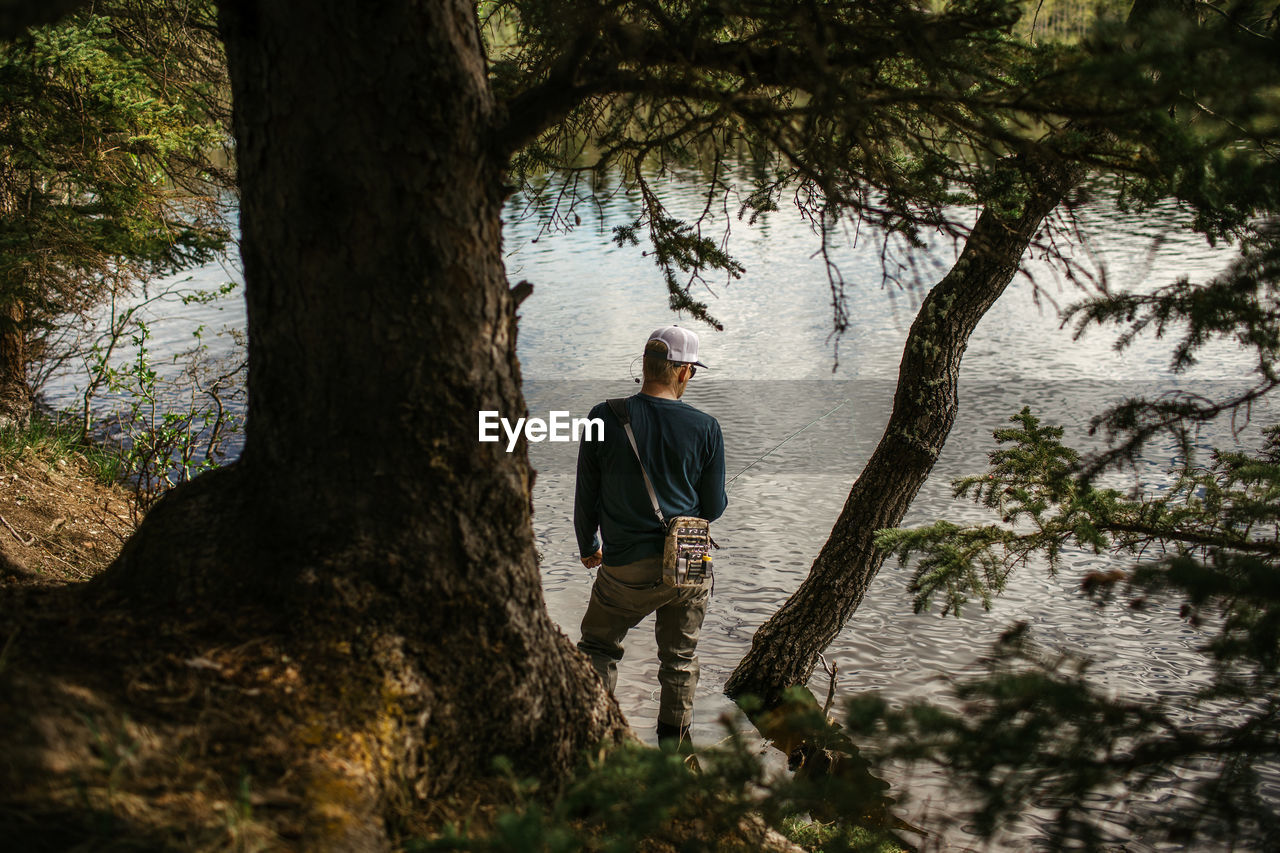
[[[891,711],[858,697],[849,726],[878,745],[877,761],[932,761],[973,792],[970,817],[982,835],[1038,807],[1055,812],[1043,839],[1051,849],[1102,849],[1107,821],[1120,817],[1149,840],[1193,849],[1211,840],[1275,847],[1280,821],[1263,781],[1276,770],[1280,734],[1274,679],[1270,693],[1245,698],[1219,683],[1175,704],[1117,698],[1091,683],[1088,667],[1085,658],[1037,648],[1018,625],[987,675],[956,686],[960,711],[924,703]],[[1117,785],[1153,790],[1170,774],[1181,779],[1179,797],[1164,807],[1101,813],[1100,800]]]

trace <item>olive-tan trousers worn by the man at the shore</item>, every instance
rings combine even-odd
[[[663,584],[662,557],[626,566],[600,566],[582,616],[582,639],[577,647],[591,658],[595,671],[613,693],[622,640],[641,619],[657,611],[654,635],[662,685],[658,722],[687,726],[694,717],[698,634],[707,615],[707,587],[676,589]]]

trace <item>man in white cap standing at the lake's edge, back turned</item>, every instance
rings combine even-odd
[[[727,502],[724,438],[714,418],[680,400],[698,368],[707,365],[698,360],[696,334],[676,325],[655,329],[645,343],[644,384],[627,398],[626,409],[663,516],[714,521]],[[590,416],[603,419],[604,441],[579,444],[573,528],[582,565],[599,573],[577,647],[612,693],[622,639],[655,613],[662,685],[658,742],[680,743],[687,740],[692,721],[698,634],[708,589],[662,583],[667,532],[654,514],[636,453],[608,403],[595,406]]]

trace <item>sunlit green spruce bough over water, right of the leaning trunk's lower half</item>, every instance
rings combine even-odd
[[[1028,409],[1012,420],[1019,428],[995,433],[1010,447],[991,455],[988,473],[954,484],[957,497],[973,497],[1001,524],[940,521],[877,535],[879,547],[902,562],[918,557],[911,583],[918,610],[940,593],[943,612],[959,613],[968,594],[989,605],[1010,571],[1033,556],[1057,570],[1068,548],[1134,558],[1280,556],[1272,526],[1280,523],[1280,432],[1267,433],[1260,455],[1215,452],[1208,467],[1188,464],[1172,471],[1157,494],[1124,496],[1079,474],[1079,455],[1061,443],[1060,428],[1042,426]]]

